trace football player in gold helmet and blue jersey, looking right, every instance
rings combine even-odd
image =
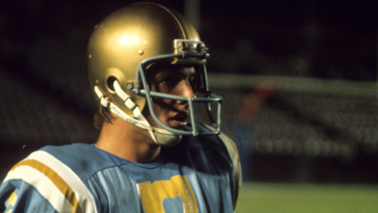
[[[208,90],[208,57],[175,10],[135,3],[110,14],[88,45],[98,141],[32,152],[1,184],[0,212],[234,212],[239,156],[220,132],[222,98]],[[196,122],[195,104],[209,125]]]

